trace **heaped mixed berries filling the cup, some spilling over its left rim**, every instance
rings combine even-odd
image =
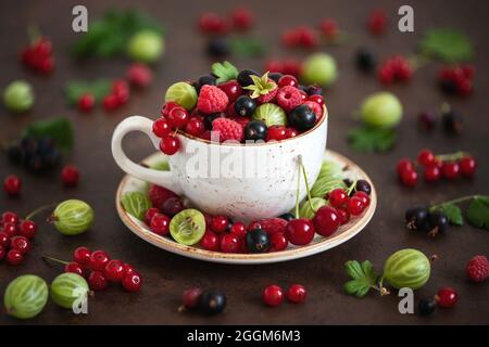
[[[323,117],[321,93],[291,75],[238,73],[228,62],[217,63],[212,74],[168,88],[153,132],[167,155],[180,146],[176,132],[210,141],[218,133],[220,142],[285,140],[311,130]]]

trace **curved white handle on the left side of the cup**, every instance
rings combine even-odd
[[[160,150],[160,139],[153,133],[152,128],[153,120],[141,116],[127,117],[121,121],[112,134],[112,155],[115,163],[130,176],[153,184],[163,185],[176,194],[181,194],[181,189],[178,182],[175,181],[171,171],[161,171],[142,167],[129,159],[126,153],[124,153],[122,140],[131,131],[145,132],[150,138],[154,147]]]

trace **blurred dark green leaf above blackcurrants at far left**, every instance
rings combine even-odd
[[[64,153],[68,153],[75,143],[72,124],[64,117],[35,121],[24,130],[23,137],[51,138]]]

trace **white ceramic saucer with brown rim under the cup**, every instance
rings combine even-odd
[[[151,164],[159,163],[162,159],[164,159],[164,155],[161,153],[155,153],[146,158],[143,163],[151,166]],[[377,193],[375,191],[375,187],[368,176],[356,164],[333,151],[326,151],[325,159],[338,162],[343,167],[347,167],[347,176],[349,178],[367,180],[372,185],[371,204],[362,216],[352,218],[347,224],[341,226],[334,235],[329,237],[323,237],[316,234],[314,240],[309,245],[289,245],[287,249],[281,252],[265,254],[226,254],[205,250],[200,248],[198,245],[185,246],[176,243],[171,237],[164,237],[154,234],[153,232],[151,232],[148,226],[127,214],[122,207],[121,198],[124,193],[130,191],[145,191],[147,189],[146,182],[128,175],[123,178],[118,185],[117,193],[115,195],[115,204],[121,219],[136,235],[155,245],[156,247],[185,257],[212,262],[241,265],[278,262],[303,258],[336,247],[356,235],[372,219],[372,216],[374,216],[374,211],[377,206]]]

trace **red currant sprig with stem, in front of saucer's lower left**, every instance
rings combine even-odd
[[[46,258],[65,264],[64,272],[86,278],[92,291],[103,291],[110,282],[121,283],[127,292],[138,292],[141,288],[142,278],[136,269],[121,260],[111,260],[103,250],[90,252],[87,247],[78,247],[73,252],[71,262]]]

